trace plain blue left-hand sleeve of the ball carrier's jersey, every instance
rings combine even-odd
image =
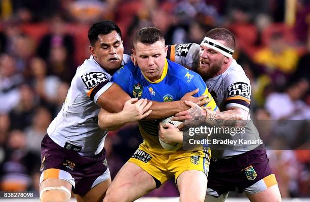
[[[119,86],[122,87],[122,89],[129,93],[129,79],[131,77],[131,71],[130,71],[130,67],[133,65],[132,62],[129,62],[128,64],[126,64],[125,66],[121,67],[117,72],[114,73],[113,77],[112,77],[112,81],[116,84],[118,84]]]

